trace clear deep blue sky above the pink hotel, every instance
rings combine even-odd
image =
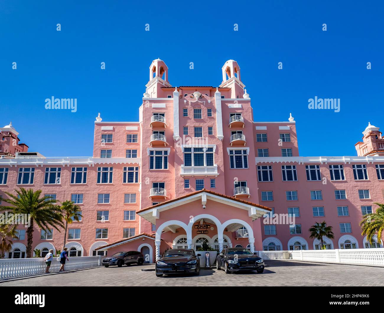
[[[379,1],[81,2],[0,1],[0,124],[12,120],[30,151],[91,156],[98,112],[138,120],[156,58],[173,86],[218,86],[236,60],[255,121],[292,112],[301,156],[354,156],[368,122],[384,129]],[[46,110],[51,96],[77,98],[78,111]],[[309,110],[314,96],[340,98],[340,112]]]

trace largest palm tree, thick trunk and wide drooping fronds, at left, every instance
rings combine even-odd
[[[13,214],[28,214],[30,224],[26,230],[27,246],[26,257],[32,255],[33,231],[35,223],[46,232],[49,227],[53,227],[60,232],[58,227],[64,228],[63,215],[60,208],[55,205],[56,200],[51,197],[41,197],[41,190],[33,191],[25,188],[15,189],[17,195],[5,192],[9,199],[2,199],[4,202],[12,204],[12,206],[0,206],[0,210],[8,210]]]

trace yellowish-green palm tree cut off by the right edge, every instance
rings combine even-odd
[[[375,213],[364,215],[361,226],[361,235],[367,236],[369,243],[372,244],[373,236],[377,233],[377,243],[380,243],[382,232],[384,231],[384,204],[375,202],[379,207]]]

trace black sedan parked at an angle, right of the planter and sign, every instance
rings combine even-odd
[[[224,269],[226,274],[238,271],[254,271],[263,273],[264,260],[244,248],[227,248],[217,256],[216,268]]]

